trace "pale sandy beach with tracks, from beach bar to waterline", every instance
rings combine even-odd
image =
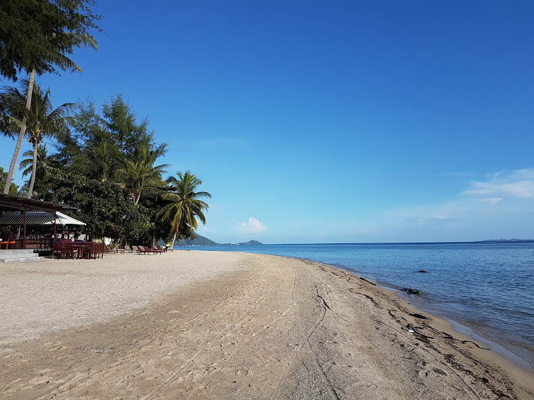
[[[319,263],[0,264],[1,399],[534,399],[534,374]]]

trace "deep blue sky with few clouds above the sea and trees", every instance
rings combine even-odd
[[[124,94],[169,144],[169,174],[191,169],[212,193],[200,234],[534,238],[532,1],[117,0],[95,11],[99,51],[72,57],[84,72],[37,82],[53,105]],[[7,169],[15,142],[0,144]]]

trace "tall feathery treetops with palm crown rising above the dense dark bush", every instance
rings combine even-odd
[[[112,96],[100,112],[90,100],[78,105],[74,120],[74,132],[58,139],[60,159],[70,171],[122,184],[134,202],[161,182],[165,165],[154,164],[167,145],[155,143],[148,120],[137,123],[122,95]]]

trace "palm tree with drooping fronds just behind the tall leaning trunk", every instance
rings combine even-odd
[[[28,80],[22,80],[22,85],[26,88]],[[33,82],[33,90],[31,91],[30,110],[25,107],[27,96],[28,92],[21,93],[15,87],[7,87],[3,99],[6,101],[6,107],[8,107],[10,123],[24,126],[25,132],[28,133],[28,142],[33,146],[33,168],[28,187],[28,198],[31,198],[37,171],[37,148],[44,137],[51,137],[69,130],[69,123],[72,123],[73,119],[68,114],[75,105],[74,103],[65,103],[53,109],[50,101],[50,89],[42,92],[41,87],[36,82]]]

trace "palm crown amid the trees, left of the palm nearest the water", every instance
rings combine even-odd
[[[123,168],[117,170],[117,184],[128,193],[134,205],[137,205],[142,193],[157,192],[161,189],[165,183],[161,174],[166,173],[164,168],[169,166],[154,166],[158,152],[150,150],[147,145],[142,144],[137,152],[135,159],[126,159]]]

